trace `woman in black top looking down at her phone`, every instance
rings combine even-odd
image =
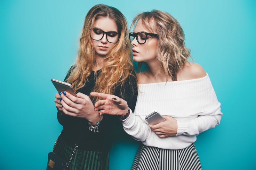
[[[108,5],[93,6],[84,19],[76,62],[64,80],[77,97],[59,92],[54,100],[63,126],[54,152],[69,160],[79,139],[69,165],[72,170],[108,169],[113,139],[126,134],[121,117],[94,111],[93,103],[100,98],[90,92],[123,98],[134,110],[138,91],[130,49],[124,15]]]

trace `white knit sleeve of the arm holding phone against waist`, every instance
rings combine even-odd
[[[178,130],[176,136],[179,135],[198,135],[208,129],[214,128],[216,125],[220,124],[220,119],[223,114],[219,107],[214,110],[200,113],[198,117],[189,122],[177,121]]]

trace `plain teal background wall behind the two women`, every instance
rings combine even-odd
[[[1,169],[45,169],[62,129],[50,79],[64,79],[84,17],[95,4],[118,8],[129,24],[152,9],[179,20],[223,112],[221,124],[199,134],[195,143],[203,169],[256,169],[256,2],[250,0],[0,1]],[[110,170],[130,169],[137,147],[116,142]]]

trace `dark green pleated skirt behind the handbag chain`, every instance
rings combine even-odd
[[[61,138],[55,146],[54,152],[60,155],[62,158],[70,160],[74,148],[69,146]],[[97,152],[97,151],[83,151],[79,150],[79,146],[76,150],[75,156],[71,161],[70,170],[108,170],[109,167],[109,151]]]

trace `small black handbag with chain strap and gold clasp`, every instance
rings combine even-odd
[[[84,130],[85,130],[85,127],[84,129],[82,130],[82,133],[77,141],[77,144],[80,142],[81,140],[81,137],[82,137],[82,134],[84,133]],[[61,134],[60,134],[61,135]],[[46,170],[69,170],[69,165],[76,153],[76,149],[78,147],[78,145],[75,145],[75,149],[71,155],[71,158],[69,159],[69,162],[63,158],[61,158],[59,155],[57,155],[56,153],[54,153],[54,148],[58,142],[58,139],[60,137],[60,135],[58,136],[54,146],[53,146],[53,149],[52,149],[52,152],[49,152],[48,153],[48,163],[47,163],[47,167],[46,167]]]

